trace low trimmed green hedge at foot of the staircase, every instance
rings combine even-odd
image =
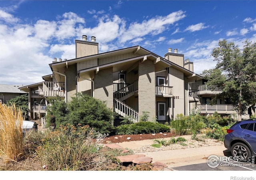
[[[116,127],[116,134],[152,134],[170,132],[170,127],[156,122],[136,122]]]

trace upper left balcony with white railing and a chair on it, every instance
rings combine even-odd
[[[64,82],[43,82],[43,86],[38,87],[39,95],[42,97],[61,96],[65,97]]]

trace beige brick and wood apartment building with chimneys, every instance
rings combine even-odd
[[[121,117],[132,116],[134,122],[144,112],[149,113],[149,121],[165,123],[177,114],[190,114],[193,108],[202,114],[219,111],[220,106],[208,105],[218,90],[212,92],[203,85],[203,77],[193,72],[193,62],[184,60],[178,49],[172,52],[169,48],[164,57],[141,46],[98,53],[94,36],[91,41],[82,36],[75,45],[76,58],[54,58],[49,64],[52,74],[43,76],[43,82],[20,88],[29,93],[32,119],[45,116],[46,97],[60,96],[68,102],[77,92],[105,101]],[[232,114],[231,107],[221,112]]]

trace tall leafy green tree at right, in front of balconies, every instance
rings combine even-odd
[[[203,72],[206,84],[222,88],[216,98],[230,98],[241,120],[248,106],[256,102],[256,43],[246,40],[243,50],[226,40],[218,45],[212,51],[216,67]]]

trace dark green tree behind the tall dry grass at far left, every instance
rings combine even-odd
[[[19,106],[22,110],[22,116],[25,118],[25,120],[28,120],[28,94],[23,94],[20,96],[16,96],[15,98],[12,98],[6,102],[9,106],[14,103],[15,106]]]

